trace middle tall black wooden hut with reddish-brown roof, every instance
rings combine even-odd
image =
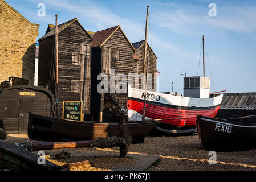
[[[115,69],[115,76],[124,73],[128,78],[128,74],[133,73],[133,64],[137,60],[134,57],[135,49],[120,26],[97,31],[92,38],[91,114],[94,115],[94,120],[98,120],[100,112],[104,111],[104,93],[97,92],[97,85],[100,83],[97,76],[100,73],[111,75],[111,69]],[[115,93],[113,97],[126,108],[127,94]],[[103,112],[103,121],[108,119]]]

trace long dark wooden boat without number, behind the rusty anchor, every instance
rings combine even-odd
[[[159,121],[126,122],[133,138],[144,137]],[[119,135],[116,122],[74,121],[29,113],[28,135],[32,140],[91,140]]]

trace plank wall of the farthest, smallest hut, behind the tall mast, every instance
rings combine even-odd
[[[149,45],[147,45],[147,60],[148,60],[148,48]],[[144,51],[145,51],[145,43],[142,44],[142,46],[140,46],[139,49],[137,49],[135,55],[137,57],[139,57],[139,61],[138,61],[138,74],[140,75],[141,73],[143,73],[143,64],[144,64]],[[156,60],[157,57],[155,56],[155,54],[153,53],[152,49],[150,48],[149,50],[149,65],[148,65],[148,73],[151,73],[152,75],[152,91],[156,92],[156,88],[154,87],[154,81],[155,81],[155,77],[154,74],[156,73]],[[140,82],[141,84],[141,82]],[[141,89],[141,86],[140,86]]]

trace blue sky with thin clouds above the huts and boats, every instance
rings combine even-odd
[[[205,36],[206,77],[210,92],[256,92],[256,1],[92,1],[92,0],[6,0],[32,23],[40,24],[38,39],[47,25],[78,18],[88,31],[120,24],[128,39],[144,39],[149,6],[148,42],[156,53],[160,71],[159,91],[182,94],[182,70],[197,76],[202,35]],[[37,15],[38,3],[46,5],[46,16]],[[210,17],[209,3],[215,3],[217,16]],[[202,76],[202,56],[198,75]],[[212,74],[210,74],[212,73]]]

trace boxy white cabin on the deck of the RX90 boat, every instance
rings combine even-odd
[[[184,77],[184,97],[209,98],[210,78],[202,76]]]

